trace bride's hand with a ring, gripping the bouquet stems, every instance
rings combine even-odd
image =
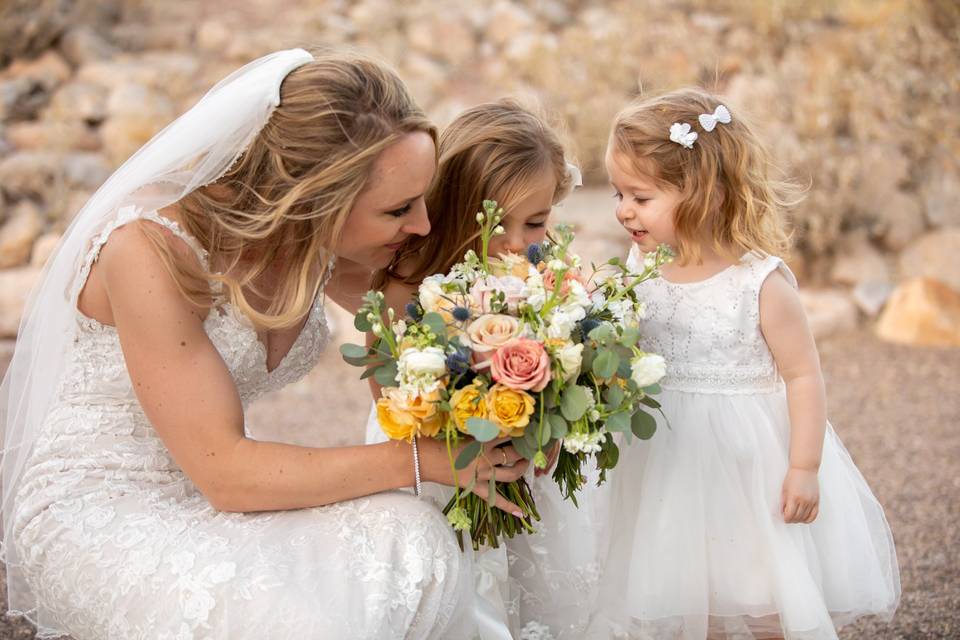
[[[473,493],[486,500],[491,477],[497,482],[513,482],[523,475],[530,464],[529,460],[517,453],[513,445],[504,445],[507,442],[510,442],[510,438],[498,438],[484,443],[481,454],[473,462],[463,469],[454,470],[450,464],[446,444],[432,438],[418,438],[420,475],[428,482],[448,486],[453,486],[456,483],[465,487],[476,474],[477,482],[473,487]],[[453,450],[454,460],[465,446],[466,444],[463,444]],[[454,471],[456,471],[456,475],[454,475]],[[496,497],[495,506],[502,511],[512,513],[518,518],[523,517],[520,507],[501,495]]]

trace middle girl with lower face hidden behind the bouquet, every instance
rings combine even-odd
[[[480,251],[476,214],[483,200],[497,200],[506,212],[501,223],[506,233],[491,240],[490,255],[525,255],[529,245],[546,238],[553,205],[579,184],[579,173],[567,164],[557,133],[512,100],[464,111],[440,136],[439,154],[437,174],[426,196],[430,235],[411,238],[382,274],[386,305],[398,311],[425,277],[446,273],[468,249]],[[383,439],[371,412],[367,442]],[[541,515],[537,533],[508,541],[506,553],[501,548],[478,554],[478,621],[484,638],[524,637],[524,627],[529,634],[537,621],[572,630],[572,635],[557,637],[576,638],[587,621],[588,609],[580,605],[587,597],[584,590],[597,586],[596,545],[584,534],[574,538],[566,530],[593,535],[587,533],[592,531],[592,519],[582,502],[577,510],[562,500],[547,471],[536,475],[531,486]],[[437,497],[445,502],[449,495]],[[550,553],[544,553],[548,549]],[[503,635],[506,629],[492,621],[507,617],[511,631]]]

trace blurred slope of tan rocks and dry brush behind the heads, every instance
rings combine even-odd
[[[610,118],[631,96],[706,86],[809,185],[791,214],[792,265],[805,285],[835,289],[822,304],[853,300],[868,317],[918,277],[949,298],[960,291],[958,15],[950,0],[7,0],[0,334],[15,333],[57,234],[113,168],[231,69],[300,45],[389,60],[441,124],[482,100],[536,100],[598,185]]]

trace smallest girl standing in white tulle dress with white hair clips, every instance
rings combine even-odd
[[[893,538],[826,419],[766,152],[684,90],[624,109],[605,162],[631,265],[677,258],[642,285],[664,419],[621,449],[593,637],[836,638],[891,616]]]

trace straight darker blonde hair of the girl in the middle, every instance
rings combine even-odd
[[[446,273],[467,249],[480,250],[476,214],[495,199],[506,215],[527,197],[544,170],[556,177],[553,202],[569,189],[563,144],[533,110],[513,99],[467,109],[440,135],[440,160],[426,194],[430,234],[410,239],[386,276],[418,284]],[[402,265],[402,275],[398,266]],[[381,277],[377,284],[385,284]]]

